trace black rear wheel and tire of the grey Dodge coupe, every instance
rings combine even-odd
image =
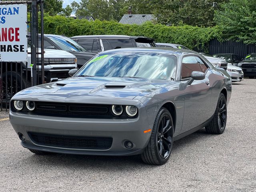
[[[208,126],[205,127],[207,133],[222,134],[227,122],[227,102],[223,93],[220,94],[214,116]]]

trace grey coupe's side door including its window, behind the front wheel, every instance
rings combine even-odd
[[[204,72],[206,77],[204,80],[194,80],[191,85],[188,85],[187,82],[193,71]],[[212,100],[209,73],[207,64],[198,56],[190,55],[182,58],[181,81],[185,92],[182,132],[200,126],[212,115],[209,110]]]

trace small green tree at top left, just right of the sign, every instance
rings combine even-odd
[[[62,0],[45,0],[44,1],[44,12],[54,16],[60,14],[63,11]]]

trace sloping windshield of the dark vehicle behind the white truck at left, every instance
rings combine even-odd
[[[55,44],[57,44],[64,51],[85,51],[88,52],[85,48],[80,46],[74,40],[67,37],[58,37],[58,36],[47,36],[50,40],[52,40]]]

